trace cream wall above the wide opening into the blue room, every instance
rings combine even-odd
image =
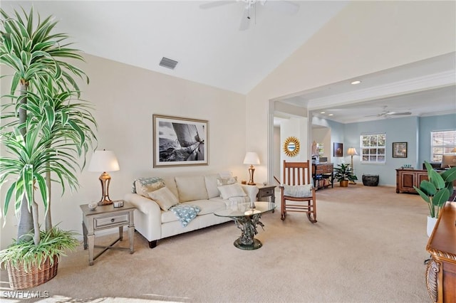
[[[249,92],[257,115],[246,120],[247,148],[267,149],[271,99],[455,51],[455,10],[454,1],[350,2]]]

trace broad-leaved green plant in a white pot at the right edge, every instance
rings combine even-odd
[[[453,181],[456,180],[456,166],[445,171],[435,171],[432,166],[425,161],[427,170],[427,180],[420,183],[420,188],[413,186],[421,198],[426,201],[429,207],[427,216],[427,235],[430,236],[434,229],[437,218],[445,203],[453,193]]]

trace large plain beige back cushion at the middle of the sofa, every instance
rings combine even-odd
[[[175,177],[175,181],[180,202],[209,198],[203,176],[179,176]]]

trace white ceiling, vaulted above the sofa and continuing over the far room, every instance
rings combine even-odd
[[[91,55],[247,94],[311,36],[318,35],[318,30],[347,3],[1,1],[0,5],[9,12],[19,6],[28,11],[33,5],[42,17],[55,16],[58,31],[69,33],[76,48]],[[290,10],[292,7],[297,11]],[[248,28],[239,30],[246,22]],[[176,68],[160,66],[162,57],[176,60]],[[445,77],[445,83],[435,83],[437,74]],[[360,75],[360,85],[351,85],[347,80],[315,87],[286,97],[284,102],[308,107],[315,115],[343,123],[383,119],[384,115],[365,116],[385,111],[412,115],[425,115],[430,110],[456,112],[454,74],[455,53],[450,53]],[[421,86],[412,87],[417,82]],[[426,82],[432,85],[426,87]],[[430,102],[426,100],[438,100],[440,107],[427,107]]]

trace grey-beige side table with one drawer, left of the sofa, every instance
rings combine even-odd
[[[90,210],[88,204],[80,206],[83,211],[83,237],[84,250],[88,249],[88,264],[93,265],[93,260],[99,257],[103,252],[110,248],[118,241],[123,240],[123,226],[128,225],[128,239],[130,248],[115,248],[120,250],[130,250],[133,253],[133,238],[135,236],[135,224],[133,221],[133,211],[135,206],[124,201],[123,207],[115,208],[113,204],[98,206],[95,210]],[[119,228],[119,238],[108,246],[95,245],[95,231],[108,228]],[[104,248],[97,255],[93,255],[94,248]]]

